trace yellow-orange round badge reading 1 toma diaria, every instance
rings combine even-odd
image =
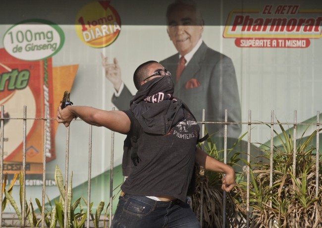
[[[112,44],[121,31],[121,21],[110,1],[91,1],[77,13],[75,30],[86,45],[96,48]]]

